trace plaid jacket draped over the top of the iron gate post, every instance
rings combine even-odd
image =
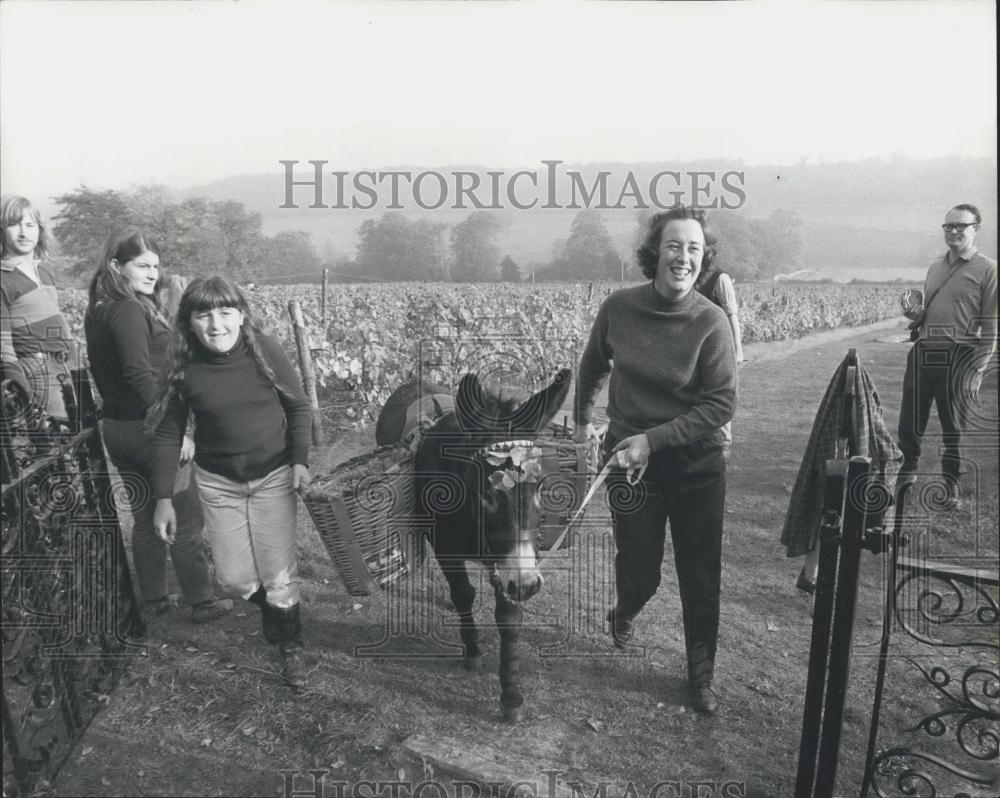
[[[844,382],[848,367],[852,365],[850,355],[844,358],[834,372],[827,386],[823,401],[820,402],[813,422],[812,433],[806,444],[806,451],[799,466],[799,473],[788,501],[788,513],[781,530],[781,542],[787,548],[787,556],[800,557],[815,547],[819,537],[820,515],[823,509],[823,480],[826,461],[837,454],[837,439],[844,429]],[[854,373],[854,415],[857,420],[854,450],[847,457],[871,457],[889,496],[895,492],[896,473],[903,459],[903,453],[896,446],[889,430],[882,420],[882,403],[878,391],[868,372],[861,365],[860,358]]]

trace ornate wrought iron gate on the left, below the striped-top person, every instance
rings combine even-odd
[[[0,386],[5,796],[52,779],[144,653],[85,372],[73,382],[68,424]]]

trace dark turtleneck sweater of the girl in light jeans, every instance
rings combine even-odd
[[[283,388],[268,383],[246,339],[224,354],[197,347],[184,374],[182,395],[171,402],[153,434],[153,493],[170,498],[188,413],[195,419],[195,462],[235,482],[267,476],[289,464],[308,465],[312,411],[295,367],[281,345],[258,335],[261,351]]]

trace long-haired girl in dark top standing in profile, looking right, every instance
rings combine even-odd
[[[90,281],[84,317],[87,355],[103,401],[101,434],[127,488],[132,512],[132,557],[144,607],[155,615],[170,607],[167,544],[153,529],[151,441],[143,431],[167,359],[170,320],[160,304],[160,246],[138,231],[112,234]],[[206,623],[233,607],[216,599],[202,538],[198,488],[191,478],[194,443],[185,437],[174,483],[177,537],[169,547],[191,620]]]

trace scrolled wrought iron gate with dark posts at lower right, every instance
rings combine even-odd
[[[835,794],[862,550],[884,558],[883,626],[864,772],[854,774],[861,786],[837,794],[1000,794],[997,571],[933,562],[925,552],[903,556],[910,486],[885,530],[870,460],[845,465],[827,474],[795,796]],[[906,726],[894,732],[903,739],[886,739],[887,699],[894,714],[910,718],[896,724]]]

